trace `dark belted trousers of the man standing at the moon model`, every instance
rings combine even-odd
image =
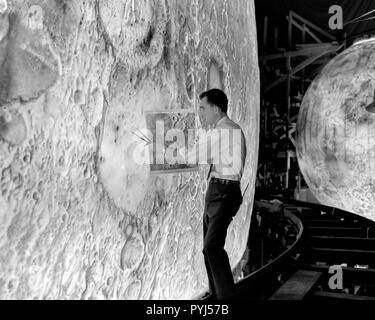
[[[239,184],[211,180],[203,214],[203,255],[210,291],[217,299],[235,294],[229,259],[224,250],[227,229],[242,203]]]

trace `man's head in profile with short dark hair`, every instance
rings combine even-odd
[[[211,89],[199,95],[199,114],[204,125],[217,123],[228,110],[228,98],[220,89]]]

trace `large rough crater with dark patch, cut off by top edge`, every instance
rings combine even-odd
[[[135,71],[154,67],[163,57],[168,21],[165,6],[163,1],[98,2],[101,22],[116,56]]]

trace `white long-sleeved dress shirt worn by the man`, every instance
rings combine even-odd
[[[212,164],[210,178],[241,181],[246,158],[245,136],[228,116],[221,118],[213,129],[201,132],[199,141],[187,153],[185,148],[179,152],[190,164]]]

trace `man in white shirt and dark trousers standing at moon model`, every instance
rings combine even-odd
[[[235,286],[228,255],[224,249],[227,228],[242,203],[240,181],[246,157],[244,134],[227,116],[228,99],[219,89],[200,96],[201,121],[211,128],[188,159],[208,155],[210,170],[203,214],[203,255],[210,295],[219,300],[232,298]],[[229,137],[229,138],[228,138]],[[230,153],[232,152],[232,156]]]

